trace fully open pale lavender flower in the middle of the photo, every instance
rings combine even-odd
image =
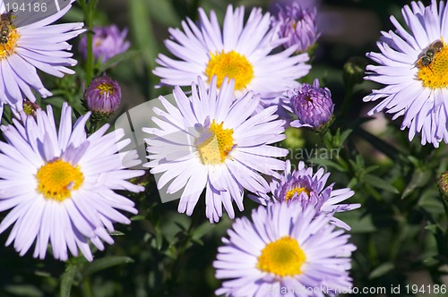
[[[218,90],[213,77],[210,89],[199,78],[192,84],[192,96],[177,87],[176,105],[160,97],[165,110],[154,108],[159,128],[143,128],[151,137],[148,145],[151,174],[162,174],[158,188],[168,184],[168,193],[179,192],[180,213],[191,216],[205,189],[205,212],[218,222],[223,207],[235,217],[233,201],[244,209],[245,189],[266,192],[269,184],[262,174],[275,175],[284,168],[288,150],[272,144],[285,139],[284,121],[271,106],[254,115],[259,97],[248,92],[236,99],[234,81],[227,79]]]

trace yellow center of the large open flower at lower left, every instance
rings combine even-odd
[[[38,191],[46,199],[64,201],[72,197],[72,191],[79,189],[84,181],[80,167],[57,159],[42,165],[38,174]]]

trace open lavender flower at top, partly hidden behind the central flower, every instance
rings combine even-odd
[[[222,27],[222,29],[221,29]],[[153,73],[160,82],[170,86],[189,86],[201,76],[210,87],[213,76],[220,88],[227,77],[235,81],[235,96],[247,91],[261,94],[264,99],[280,96],[285,89],[296,88],[297,79],[305,76],[311,66],[305,64],[308,54],[293,55],[294,48],[275,52],[281,40],[271,27],[271,15],[254,8],[245,22],[245,7],[228,5],[220,25],[216,13],[210,17],[199,9],[199,22],[182,21],[182,30],[169,30],[165,41],[176,59],[159,54]]]

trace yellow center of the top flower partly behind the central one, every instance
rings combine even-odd
[[[228,79],[234,79],[235,90],[240,90],[246,88],[254,78],[254,66],[247,61],[246,56],[234,50],[228,53],[222,51],[220,54],[211,54],[205,74],[209,77],[209,82],[213,75],[216,75],[218,88],[226,76]]]

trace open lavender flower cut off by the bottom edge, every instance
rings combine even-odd
[[[292,203],[260,206],[252,221],[237,218],[213,262],[216,278],[226,279],[215,293],[323,297],[348,292],[356,247],[329,221],[312,207]]]

